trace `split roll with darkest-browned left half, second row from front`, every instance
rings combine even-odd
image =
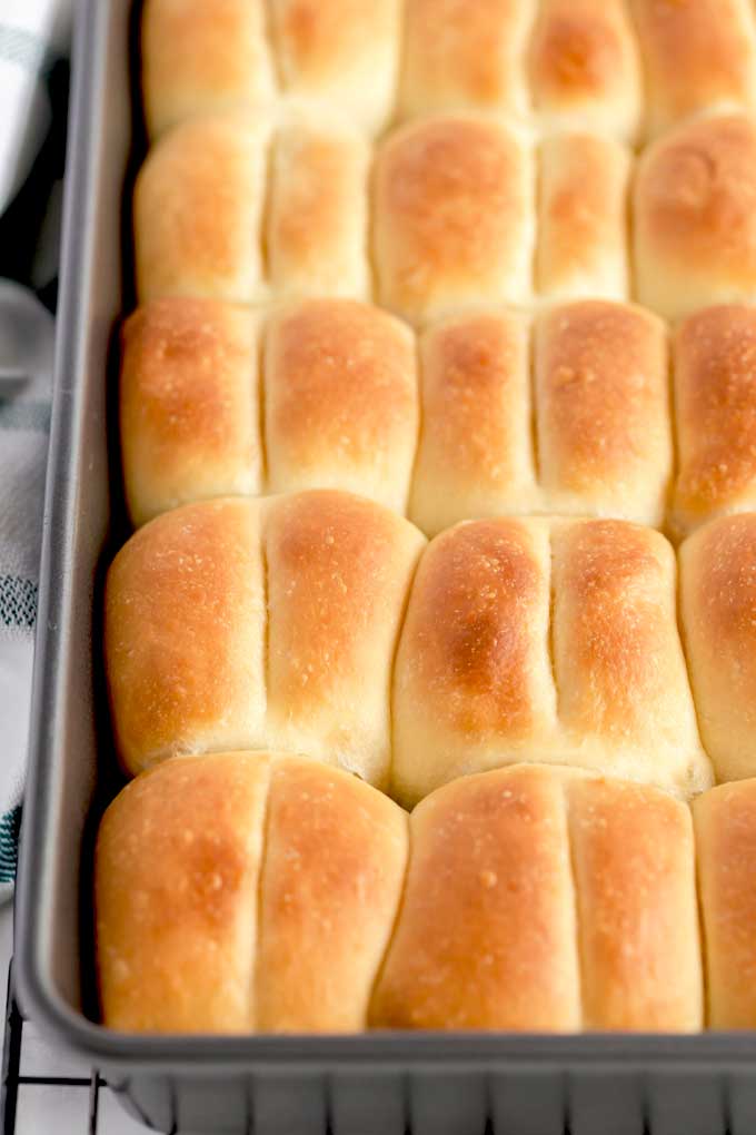
[[[551,609],[550,609],[551,605]],[[392,791],[541,760],[708,787],[671,547],[621,521],[483,520],[423,556],[399,641]]]

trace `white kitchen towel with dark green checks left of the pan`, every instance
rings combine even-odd
[[[71,6],[0,0],[0,901],[28,735]]]

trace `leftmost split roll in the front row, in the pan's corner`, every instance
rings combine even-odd
[[[103,1023],[364,1028],[406,857],[402,810],[338,770],[267,753],[165,762],[100,827]]]

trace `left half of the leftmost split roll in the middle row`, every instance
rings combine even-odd
[[[126,320],[120,435],[135,524],[188,501],[263,488],[257,320],[216,300],[170,297]]]

